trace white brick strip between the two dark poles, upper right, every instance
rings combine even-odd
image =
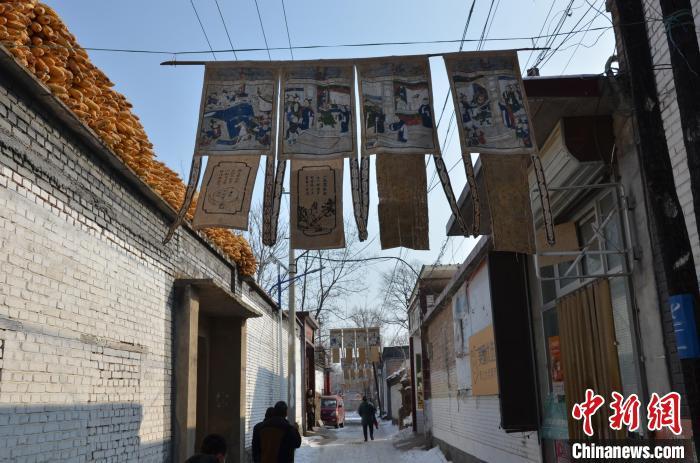
[[[700,0],[692,0],[693,17],[695,18],[695,30],[700,32]],[[668,40],[664,24],[659,19],[662,17],[658,0],[645,0],[645,15],[647,17],[647,35],[652,52],[654,65],[669,65]],[[700,37],[700,34],[698,35]],[[673,82],[673,71],[670,69],[658,69],[656,74],[656,86],[659,93],[659,105],[666,131],[666,142],[671,156],[673,175],[676,182],[678,199],[683,209],[690,245],[695,259],[695,271],[700,276],[700,239],[695,223],[695,211],[693,208],[693,196],[690,191],[690,174],[688,170],[688,158],[683,144],[683,131],[680,116],[678,114],[678,101]]]

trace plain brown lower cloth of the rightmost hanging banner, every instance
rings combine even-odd
[[[528,159],[528,155],[481,155],[491,212],[491,237],[496,251],[524,254],[535,251]]]

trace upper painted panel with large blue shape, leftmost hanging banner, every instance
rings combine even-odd
[[[271,154],[278,78],[271,66],[208,63],[196,155]]]

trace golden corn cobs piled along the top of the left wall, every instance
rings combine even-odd
[[[153,145],[131,103],[95,67],[55,11],[36,1],[0,2],[0,42],[82,122],[173,208],[178,209],[185,185],[155,159]],[[188,211],[192,219],[196,201]],[[243,275],[255,273],[250,245],[240,235],[210,228],[204,234],[233,260]]]

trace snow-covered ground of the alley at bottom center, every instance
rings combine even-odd
[[[399,431],[388,422],[380,423],[369,442],[364,442],[362,427],[355,424],[325,428],[323,433],[303,439],[296,463],[448,463],[438,448],[396,448],[395,443],[410,440],[414,434],[410,428]]]

